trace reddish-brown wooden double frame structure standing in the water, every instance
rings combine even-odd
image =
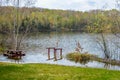
[[[57,60],[62,59],[62,48],[48,47],[47,49],[48,49],[48,60],[54,59],[55,61],[57,61]],[[53,58],[50,57],[50,54],[51,54],[50,51],[51,50],[53,50],[53,53],[54,53],[54,57]],[[57,59],[57,55],[58,55],[57,51],[60,52],[59,53],[60,54],[60,58],[59,59]]]

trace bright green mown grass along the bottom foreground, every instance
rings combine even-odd
[[[0,63],[0,80],[120,80],[120,71],[50,64]]]

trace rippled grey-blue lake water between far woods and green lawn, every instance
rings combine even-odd
[[[115,45],[120,45],[120,39],[112,34],[105,34],[108,48],[110,49],[110,56],[112,59],[120,60],[120,48]],[[51,33],[35,33],[29,35],[24,41],[24,52],[26,56],[20,60],[21,63],[49,63],[59,64],[68,66],[81,66],[81,67],[96,67],[106,68],[113,70],[120,70],[120,66],[112,66],[104,63],[92,61],[87,64],[80,64],[69,61],[66,59],[66,54],[74,52],[76,48],[76,42],[81,44],[83,53],[88,52],[90,54],[104,57],[103,50],[101,49],[98,41],[101,42],[100,34],[86,34],[79,32],[51,32]],[[57,44],[56,44],[57,43]],[[47,47],[59,47],[63,48],[63,59],[54,61],[47,60]],[[52,51],[51,51],[52,53]],[[51,54],[53,57],[53,54]],[[14,60],[7,59],[6,57],[0,56],[0,61],[3,62],[15,62]]]

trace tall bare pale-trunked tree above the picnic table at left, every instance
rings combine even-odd
[[[23,1],[22,1],[23,2]],[[32,6],[33,4],[35,3],[35,0],[24,0],[24,7],[30,7]],[[19,16],[19,6],[20,5],[20,1],[17,0],[17,29],[16,29],[16,49],[19,50],[20,47],[21,47],[21,44],[22,44],[22,41],[26,38],[26,36],[28,35],[29,33],[29,30],[31,29],[31,25],[30,25],[30,22],[29,21],[26,25],[26,28],[24,28],[25,30],[23,31],[23,33],[19,34],[19,30],[20,28],[22,27],[20,24],[22,20],[20,20],[20,16]],[[26,11],[24,11],[24,13],[22,15],[24,15],[24,17],[26,17]]]

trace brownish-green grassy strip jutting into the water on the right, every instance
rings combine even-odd
[[[66,55],[66,58],[71,61],[80,62],[81,64],[86,64],[89,61],[98,61],[105,64],[111,64],[111,65],[118,65],[120,66],[120,61],[113,60],[113,59],[105,59],[105,58],[99,58],[96,55],[88,54],[88,53],[79,53],[79,52],[73,52]]]

